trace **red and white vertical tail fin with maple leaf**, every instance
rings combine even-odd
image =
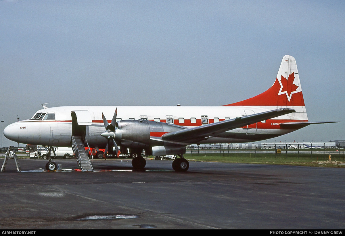
[[[225,106],[269,106],[270,108],[276,109],[288,107],[297,111],[294,115],[299,120],[307,120],[295,58],[290,55],[283,57],[274,84],[264,93]]]

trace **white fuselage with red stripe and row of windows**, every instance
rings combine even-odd
[[[55,114],[54,119],[27,119],[7,126],[4,135],[13,141],[46,146],[70,147],[72,136],[72,111],[83,111],[85,117],[77,115],[78,123],[89,121],[86,125],[86,139],[90,147],[105,147],[106,139],[100,136],[105,131],[102,113],[108,122],[117,108],[117,121],[128,119],[147,119],[184,127],[200,126],[207,123],[233,119],[250,114],[276,109],[276,106],[66,106],[38,110],[36,114]],[[253,125],[229,130],[203,143],[250,142],[277,137],[292,132],[291,129],[280,129],[279,124],[301,120],[296,114],[303,113],[302,107],[292,107],[296,112],[279,116]],[[302,109],[302,110],[301,110]],[[300,110],[300,111],[299,111]],[[35,115],[36,115],[35,114]],[[34,116],[35,116],[34,115]],[[33,117],[34,117],[33,116]],[[302,118],[307,120],[307,118]]]

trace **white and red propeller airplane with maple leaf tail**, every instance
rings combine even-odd
[[[173,169],[186,171],[189,163],[183,154],[189,144],[253,142],[321,123],[329,122],[308,121],[296,60],[286,55],[273,86],[238,103],[45,107],[31,119],[7,126],[4,135],[16,142],[59,147],[71,147],[78,137],[96,150],[106,148],[116,155],[129,150],[138,169],[146,165],[142,150],[154,156],[177,154],[180,158],[173,161]]]

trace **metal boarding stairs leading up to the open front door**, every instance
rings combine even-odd
[[[81,171],[93,171],[88,151],[85,150],[84,142],[80,136],[72,136],[72,148],[76,154]]]

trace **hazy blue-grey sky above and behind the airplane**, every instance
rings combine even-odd
[[[0,116],[5,127],[49,102],[225,105],[264,92],[289,54],[309,120],[342,123],[275,140],[345,139],[344,45],[343,1],[2,0]]]

